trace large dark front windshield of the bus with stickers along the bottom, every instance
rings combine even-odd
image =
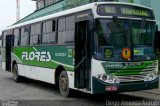
[[[130,61],[153,60],[155,22],[96,19],[95,58],[101,60],[124,61],[122,50],[132,52]]]

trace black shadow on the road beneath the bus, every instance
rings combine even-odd
[[[48,84],[41,81],[31,80],[31,79],[23,79],[23,84],[26,84],[28,86],[32,86],[38,89],[43,89],[44,91],[54,92],[57,95],[60,95],[58,86]],[[131,96],[127,94],[115,94],[115,93],[108,93],[105,95],[91,95],[79,91],[74,91],[74,95],[72,97],[73,100],[78,100],[81,102],[91,102],[93,104],[103,104],[106,103],[106,101],[143,101],[146,98]]]

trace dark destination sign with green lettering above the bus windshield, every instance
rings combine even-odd
[[[144,17],[154,19],[152,10],[133,5],[99,5],[97,12],[102,16]]]

